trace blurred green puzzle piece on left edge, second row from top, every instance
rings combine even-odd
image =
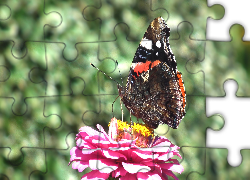
[[[11,54],[13,42],[0,42],[3,52],[0,57],[0,101],[12,99],[9,110],[16,115],[27,111],[27,98],[44,96],[46,84],[43,74],[46,67],[44,43],[26,42],[27,55],[16,59]],[[33,77],[33,75],[35,77]]]

